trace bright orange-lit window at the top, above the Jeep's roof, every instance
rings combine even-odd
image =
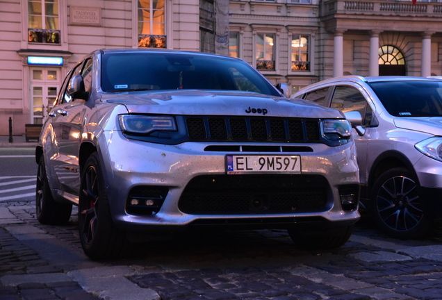
[[[138,47],[166,47],[165,0],[138,0]]]

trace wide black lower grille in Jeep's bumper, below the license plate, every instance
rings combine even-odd
[[[317,212],[327,209],[328,187],[324,177],[312,175],[198,176],[179,209],[193,215]]]

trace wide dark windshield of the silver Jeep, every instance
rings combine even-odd
[[[242,60],[180,53],[110,53],[101,67],[104,92],[238,90],[279,96]]]

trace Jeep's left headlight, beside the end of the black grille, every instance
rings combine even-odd
[[[122,131],[128,133],[150,133],[152,131],[177,131],[172,116],[120,115]]]

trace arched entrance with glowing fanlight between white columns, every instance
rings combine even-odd
[[[391,45],[379,48],[379,76],[405,76],[405,58],[402,52]]]

